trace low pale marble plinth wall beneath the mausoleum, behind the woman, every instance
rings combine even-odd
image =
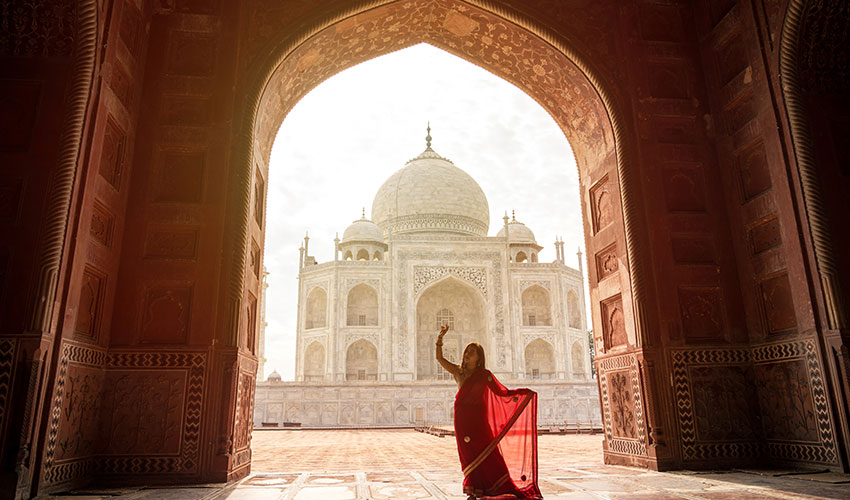
[[[502,383],[538,393],[538,425],[599,425],[602,420],[596,381]],[[258,382],[254,426],[283,427],[285,422],[302,427],[451,425],[456,392],[453,381]]]

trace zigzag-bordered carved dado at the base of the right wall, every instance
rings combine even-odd
[[[675,349],[670,357],[685,460],[767,453],[786,461],[837,463],[814,340]]]

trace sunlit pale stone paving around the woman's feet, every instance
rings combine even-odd
[[[539,438],[548,499],[850,499],[850,476],[792,471],[658,473],[606,466],[602,437]],[[454,438],[412,430],[257,431],[253,472],[236,484],[81,490],[66,500],[465,499]]]

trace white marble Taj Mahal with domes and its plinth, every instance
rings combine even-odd
[[[532,230],[503,221],[489,236],[483,190],[432,149],[429,128],[425,150],[378,189],[371,219],[364,209],[334,240],[332,261],[317,262],[305,237],[296,380],[257,383],[255,425],[450,423],[456,386],[434,356],[444,324],[446,358],[480,343],[500,380],[538,391],[541,423],[598,424],[581,253],[570,267],[556,241],[541,262]]]

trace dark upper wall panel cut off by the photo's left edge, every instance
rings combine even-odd
[[[30,148],[40,98],[41,82],[0,80],[0,151]]]

